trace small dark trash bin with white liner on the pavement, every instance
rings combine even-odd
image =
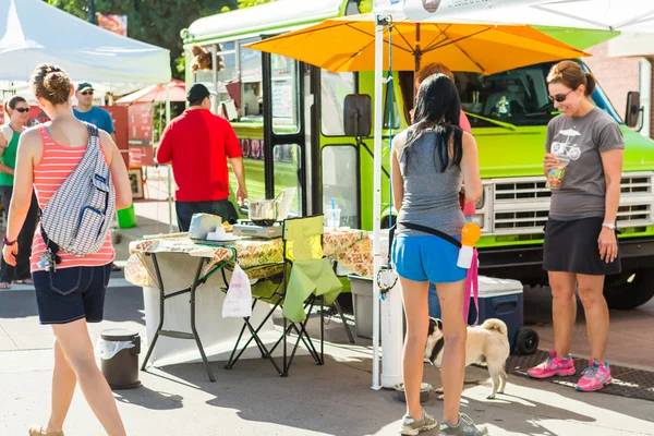
[[[100,334],[100,370],[111,389],[132,389],[138,380],[141,337],[125,329],[110,329]]]

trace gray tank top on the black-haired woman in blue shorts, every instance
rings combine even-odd
[[[452,237],[460,237],[465,225],[459,191],[463,175],[461,168],[451,160],[445,172],[440,172],[440,159],[434,156],[436,135],[425,131],[411,146],[409,171],[407,153],[400,157],[400,172],[404,185],[402,208],[398,222],[410,222],[440,230]],[[417,230],[398,229],[397,234],[425,235]]]

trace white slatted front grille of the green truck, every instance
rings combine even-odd
[[[618,227],[642,227],[654,222],[654,173],[622,175]],[[550,192],[544,178],[497,179],[486,183],[484,230],[493,234],[542,233],[547,221]],[[491,209],[491,210],[489,210]],[[491,219],[487,219],[491,218]]]

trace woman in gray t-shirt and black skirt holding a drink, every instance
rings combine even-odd
[[[543,247],[543,268],[549,275],[554,298],[555,349],[545,362],[529,370],[529,375],[574,374],[569,351],[577,314],[574,290],[579,289],[591,360],[577,390],[593,391],[611,382],[604,360],[608,340],[604,277],[620,272],[615,225],[625,143],[618,123],[591,102],[595,78],[579,63],[559,62],[547,83],[549,98],[562,113],[547,125],[545,174],[566,165],[560,187],[552,192]]]

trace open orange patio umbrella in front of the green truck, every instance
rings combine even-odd
[[[351,15],[305,27],[246,47],[324,68],[332,72],[372,71],[375,62],[375,16]],[[492,74],[534,63],[579,58],[588,53],[528,25],[470,22],[409,22],[384,31],[392,47],[392,65],[414,71],[421,62],[441,62],[453,71]],[[384,60],[388,70],[388,60]]]

